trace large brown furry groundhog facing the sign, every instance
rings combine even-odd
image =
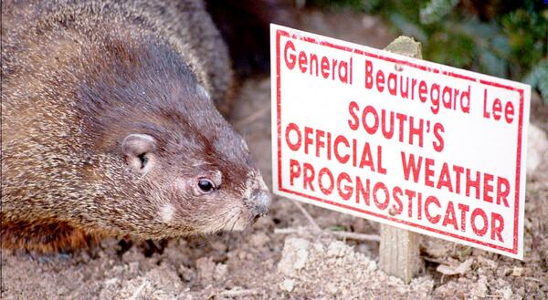
[[[199,0],[4,1],[5,248],[242,230],[269,190],[227,111],[232,71]]]

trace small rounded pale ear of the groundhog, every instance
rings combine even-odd
[[[133,133],[121,142],[121,151],[133,171],[145,174],[153,168],[156,140],[148,134]]]

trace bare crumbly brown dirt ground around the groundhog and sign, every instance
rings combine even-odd
[[[373,47],[394,38],[371,16],[311,13],[302,24]],[[232,122],[271,182],[269,78],[243,83]],[[548,132],[548,107],[538,98],[532,123]],[[244,233],[133,245],[105,240],[54,256],[3,251],[2,298],[548,299],[548,151],[540,159],[527,181],[523,261],[423,237],[421,274],[404,284],[378,269],[377,242],[313,234],[294,202],[275,198],[269,215]],[[378,234],[374,222],[303,207],[323,230]],[[295,233],[275,233],[286,228]]]

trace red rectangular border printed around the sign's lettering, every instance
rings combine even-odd
[[[414,222],[408,222],[408,221],[405,221],[405,220],[399,220],[399,219],[396,219],[395,217],[392,217],[392,216],[389,216],[389,215],[384,215],[384,214],[380,214],[380,213],[376,213],[376,212],[369,212],[369,211],[366,211],[366,210],[363,210],[363,209],[360,209],[360,208],[356,208],[356,207],[353,207],[353,206],[350,206],[350,205],[346,205],[346,204],[339,203],[339,202],[332,202],[330,200],[322,199],[322,198],[319,198],[319,197],[316,197],[316,196],[307,195],[307,194],[302,193],[300,191],[291,191],[289,189],[286,189],[286,188],[282,187],[281,186],[281,75],[280,75],[281,68],[280,68],[280,55],[279,55],[280,36],[286,36],[286,37],[289,37],[289,38],[305,41],[305,42],[320,45],[320,46],[332,47],[332,48],[335,48],[335,49],[338,49],[338,50],[352,52],[352,53],[357,54],[357,55],[364,55],[366,57],[374,57],[374,58],[377,58],[377,59],[382,59],[382,60],[385,60],[385,61],[388,61],[388,62],[398,63],[398,64],[405,65],[405,66],[408,66],[408,67],[416,67],[416,68],[421,69],[423,71],[433,72],[435,74],[441,73],[441,75],[445,75],[445,76],[452,77],[452,78],[459,78],[459,79],[469,80],[469,81],[473,81],[473,82],[479,82],[480,84],[484,84],[484,85],[487,85],[487,86],[496,87],[496,88],[505,88],[505,89],[508,89],[508,90],[511,90],[511,91],[518,92],[520,94],[520,115],[519,115],[519,128],[518,128],[518,149],[517,149],[517,159],[516,159],[516,189],[515,189],[515,193],[514,193],[515,194],[515,199],[514,199],[513,248],[506,248],[506,247],[502,247],[502,246],[494,244],[494,243],[482,242],[482,241],[472,239],[472,238],[469,238],[469,237],[466,237],[466,236],[458,235],[456,233],[447,233],[447,232],[444,232],[444,231],[441,231],[441,230],[437,230],[435,228],[427,227],[425,225],[416,224]],[[512,254],[517,254],[518,253],[518,233],[519,233],[518,222],[519,222],[519,213],[520,213],[520,202],[519,202],[519,198],[520,198],[520,171],[521,171],[521,167],[522,167],[521,166],[522,165],[522,129],[523,129],[523,98],[524,98],[523,97],[523,95],[524,95],[524,89],[523,88],[513,88],[511,86],[507,86],[507,85],[500,84],[500,83],[497,83],[497,82],[492,82],[492,81],[489,81],[489,80],[483,80],[483,79],[479,79],[479,78],[471,78],[467,75],[461,75],[461,74],[458,74],[454,71],[440,71],[439,69],[434,68],[434,67],[426,67],[426,66],[422,66],[420,64],[417,64],[417,63],[414,63],[414,62],[409,62],[409,61],[406,61],[406,60],[396,59],[396,58],[393,58],[393,57],[384,57],[382,55],[377,55],[377,54],[374,54],[374,53],[366,52],[364,50],[356,49],[356,48],[353,48],[353,47],[335,45],[332,42],[321,41],[321,40],[318,40],[318,39],[316,39],[314,37],[311,37],[311,36],[290,35],[289,32],[287,32],[285,30],[282,30],[282,29],[276,29],[276,85],[277,85],[277,87],[276,87],[276,94],[277,94],[276,95],[276,108],[277,108],[276,112],[277,112],[277,117],[278,117],[277,118],[277,122],[278,122],[277,123],[277,126],[278,126],[278,128],[277,128],[277,130],[278,130],[278,153],[277,154],[278,154],[278,190],[279,191],[284,191],[284,192],[294,194],[294,195],[297,195],[297,196],[300,196],[300,197],[308,198],[308,199],[311,199],[311,200],[314,200],[314,201],[331,204],[331,205],[338,206],[338,207],[341,207],[343,209],[351,210],[351,211],[354,211],[354,212],[361,212],[361,213],[364,213],[364,214],[373,215],[377,218],[389,220],[389,221],[392,221],[392,222],[403,223],[403,224],[406,224],[406,225],[411,226],[411,227],[416,227],[416,228],[426,230],[428,232],[438,233],[438,234],[441,234],[441,235],[450,236],[450,237],[456,238],[458,240],[467,241],[469,243],[476,243],[476,244],[483,245],[483,246],[486,246],[486,247],[489,247],[489,248],[492,248],[492,249],[501,250],[503,252],[512,253]]]

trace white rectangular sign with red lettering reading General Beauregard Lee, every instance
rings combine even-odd
[[[531,88],[270,26],[274,192],[523,257]]]

